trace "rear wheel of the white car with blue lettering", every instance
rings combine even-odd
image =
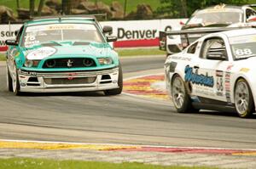
[[[175,75],[172,78],[172,101],[178,113],[196,112],[191,104],[188,91],[185,87],[183,79]]]

